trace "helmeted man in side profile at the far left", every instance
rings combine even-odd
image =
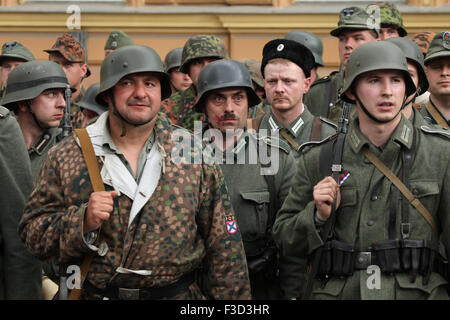
[[[17,116],[35,180],[47,152],[62,138],[58,126],[68,84],[62,68],[51,61],[26,62],[9,75],[2,104]]]

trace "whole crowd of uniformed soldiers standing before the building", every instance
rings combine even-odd
[[[340,11],[323,78],[304,31],[164,63],[113,31],[86,91],[71,35],[4,44],[0,298],[449,299],[450,31],[376,5]]]

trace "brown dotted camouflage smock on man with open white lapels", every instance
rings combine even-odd
[[[207,279],[203,291],[194,282],[173,299],[249,299],[241,235],[229,233],[226,226],[234,212],[222,171],[205,163],[176,164],[170,156],[176,148],[171,138],[174,129],[159,113],[154,128],[163,157],[158,185],[129,227],[133,201],[123,193],[115,198],[114,210],[101,231],[109,250],[103,257],[94,257],[87,281],[101,290],[107,285],[160,287],[202,266]],[[188,153],[194,156],[198,150]],[[97,159],[101,170],[103,162]],[[111,191],[109,186],[106,189]],[[92,191],[81,149],[73,136],[68,137],[49,151],[19,226],[30,252],[39,259],[59,256],[63,262],[79,265],[92,252],[83,236]],[[118,267],[152,272],[124,274],[116,272]],[[98,298],[84,294],[84,298]]]

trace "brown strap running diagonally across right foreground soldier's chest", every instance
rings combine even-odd
[[[408,201],[414,206],[414,208],[416,208],[417,211],[419,211],[420,214],[425,218],[425,220],[430,224],[433,231],[437,233],[438,229],[433,217],[422,205],[419,199],[417,199],[412,194],[412,192],[409,191],[409,189],[403,184],[403,182],[399,178],[397,178],[397,176],[391,170],[389,170],[389,168],[386,167],[380,159],[378,159],[372,152],[370,152],[366,146],[361,149],[361,152],[397,187],[398,190],[400,190],[400,192],[406,197],[406,199],[408,199]]]

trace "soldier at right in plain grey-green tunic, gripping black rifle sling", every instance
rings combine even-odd
[[[415,91],[396,45],[350,56],[343,98],[357,117],[301,157],[274,224],[282,254],[313,257],[304,298],[449,299],[449,134],[402,115]]]

